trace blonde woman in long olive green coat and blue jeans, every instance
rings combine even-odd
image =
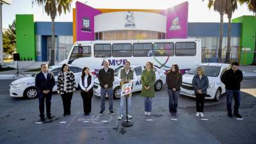
[[[141,96],[145,97],[145,115],[150,115],[152,110],[152,97],[155,97],[154,83],[156,74],[153,70],[154,65],[151,61],[147,61],[146,69],[141,74]]]

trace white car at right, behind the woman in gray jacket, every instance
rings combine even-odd
[[[231,68],[231,65],[227,63],[200,63],[189,71],[186,71],[186,74],[182,76],[180,94],[195,97],[192,80],[196,74],[196,68],[199,66],[205,70],[205,76],[209,79],[209,86],[207,88],[205,99],[214,99],[215,101],[220,100],[221,95],[225,93],[225,85],[221,82],[220,78],[226,70]]]

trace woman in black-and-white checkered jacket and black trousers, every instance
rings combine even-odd
[[[63,64],[61,72],[58,74],[57,92],[61,95],[63,102],[64,113],[63,116],[71,114],[71,100],[73,92],[76,91],[76,81],[73,72],[69,70],[67,64]]]

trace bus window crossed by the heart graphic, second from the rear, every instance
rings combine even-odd
[[[155,43],[154,56],[173,56],[174,44],[173,43]]]

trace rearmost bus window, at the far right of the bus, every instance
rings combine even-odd
[[[175,56],[195,56],[195,42],[177,42],[175,43]]]

